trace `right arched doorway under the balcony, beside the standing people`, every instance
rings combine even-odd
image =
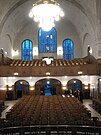
[[[67,87],[68,87],[67,93],[69,95],[74,95],[82,102],[83,99],[82,82],[78,79],[71,79],[68,81]]]

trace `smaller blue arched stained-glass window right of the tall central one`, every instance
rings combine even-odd
[[[63,41],[63,59],[73,60],[74,59],[74,44],[70,39],[65,39]]]

